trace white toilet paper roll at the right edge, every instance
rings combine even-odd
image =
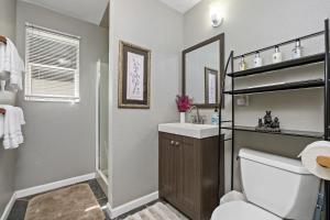
[[[309,144],[298,157],[301,157],[302,165],[319,178],[330,180],[330,168],[320,166],[317,163],[318,156],[330,156],[330,142],[317,141]]]

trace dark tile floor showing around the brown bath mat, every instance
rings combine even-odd
[[[97,183],[96,179],[91,179],[89,182],[86,182],[89,187],[91,188],[95,197],[97,198],[100,207],[103,207],[102,210],[106,216],[106,220],[110,220],[108,212],[106,211],[106,206],[108,202],[107,195],[102,191],[100,185]],[[24,220],[25,211],[28,208],[29,201],[37,195],[20,198],[15,200],[15,204],[13,208],[11,209],[9,217],[7,220]]]

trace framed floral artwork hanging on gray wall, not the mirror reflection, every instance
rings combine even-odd
[[[119,43],[119,108],[150,109],[151,51]]]

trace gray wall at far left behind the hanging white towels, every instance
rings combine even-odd
[[[0,0],[0,35],[15,41],[15,0]],[[16,150],[4,151],[0,143],[0,217],[14,191]]]

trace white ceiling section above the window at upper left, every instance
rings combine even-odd
[[[109,0],[21,0],[99,25]]]

